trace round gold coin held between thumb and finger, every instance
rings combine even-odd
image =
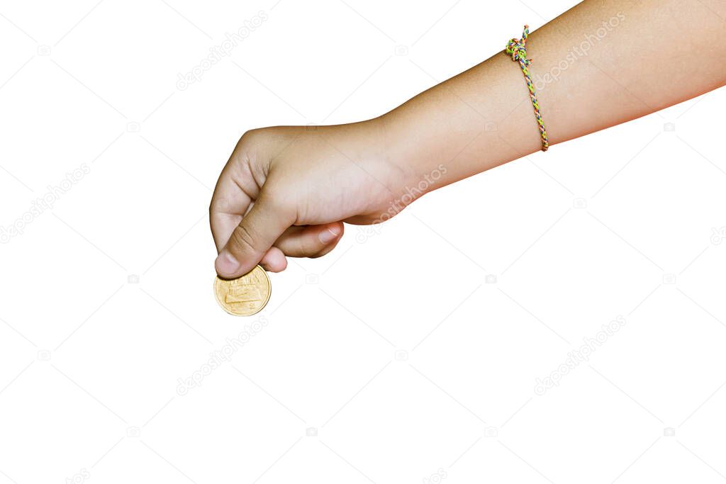
[[[214,295],[224,311],[232,316],[252,316],[265,307],[271,286],[264,268],[256,266],[237,279],[214,279]]]

